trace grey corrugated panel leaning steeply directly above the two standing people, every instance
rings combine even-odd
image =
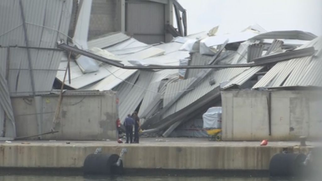
[[[135,111],[140,104],[147,91],[146,89],[151,82],[152,76],[153,72],[151,71],[140,71],[139,78],[135,83],[135,86],[130,90],[130,93],[124,95],[124,98],[119,97],[120,100],[123,100],[122,102],[119,102],[119,117],[121,121],[124,121],[127,114]]]

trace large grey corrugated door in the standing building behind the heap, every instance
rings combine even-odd
[[[165,42],[165,5],[127,2],[126,31],[147,44]]]

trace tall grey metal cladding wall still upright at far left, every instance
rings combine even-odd
[[[59,40],[67,40],[72,0],[22,1],[29,46],[55,48]],[[0,3],[1,46],[26,46],[19,0],[2,0]],[[62,52],[29,49],[34,70],[35,94],[49,93],[61,60]],[[1,60],[3,64],[4,60]],[[31,95],[32,85],[27,49],[10,48],[9,91],[11,95]]]

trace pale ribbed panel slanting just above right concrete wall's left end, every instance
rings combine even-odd
[[[248,81],[255,73],[263,69],[263,66],[251,67],[248,70],[243,71],[241,74],[234,77],[230,82],[228,82],[223,89],[227,89],[232,85],[239,85],[241,86],[243,83]]]

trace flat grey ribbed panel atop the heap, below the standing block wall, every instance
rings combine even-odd
[[[109,33],[104,36],[98,37],[96,39],[90,40],[87,42],[88,48],[106,48],[112,45],[115,45],[117,43],[123,42],[125,40],[128,40],[130,37],[128,37],[124,33]]]

